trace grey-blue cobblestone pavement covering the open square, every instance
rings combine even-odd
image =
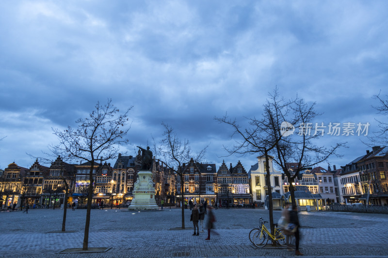
[[[268,211],[260,209],[218,209],[215,211],[219,235],[205,241],[207,233],[192,236],[181,226],[181,211],[128,212],[117,209],[92,210],[89,247],[112,247],[106,253],[56,254],[82,247],[86,210],[67,211],[66,230],[61,230],[63,210],[34,209],[29,213],[0,213],[0,257],[292,257],[284,248],[255,248],[248,233],[259,217],[268,221]],[[192,228],[190,210],[185,225]],[[277,222],[280,211],[274,211]],[[388,215],[354,212],[300,212],[300,250],[305,257],[385,257],[388,258]],[[206,218],[205,218],[206,222]]]

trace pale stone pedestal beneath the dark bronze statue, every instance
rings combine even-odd
[[[152,172],[140,170],[138,179],[133,187],[133,199],[128,207],[129,211],[155,211],[159,206],[155,201],[155,187],[152,182]]]

